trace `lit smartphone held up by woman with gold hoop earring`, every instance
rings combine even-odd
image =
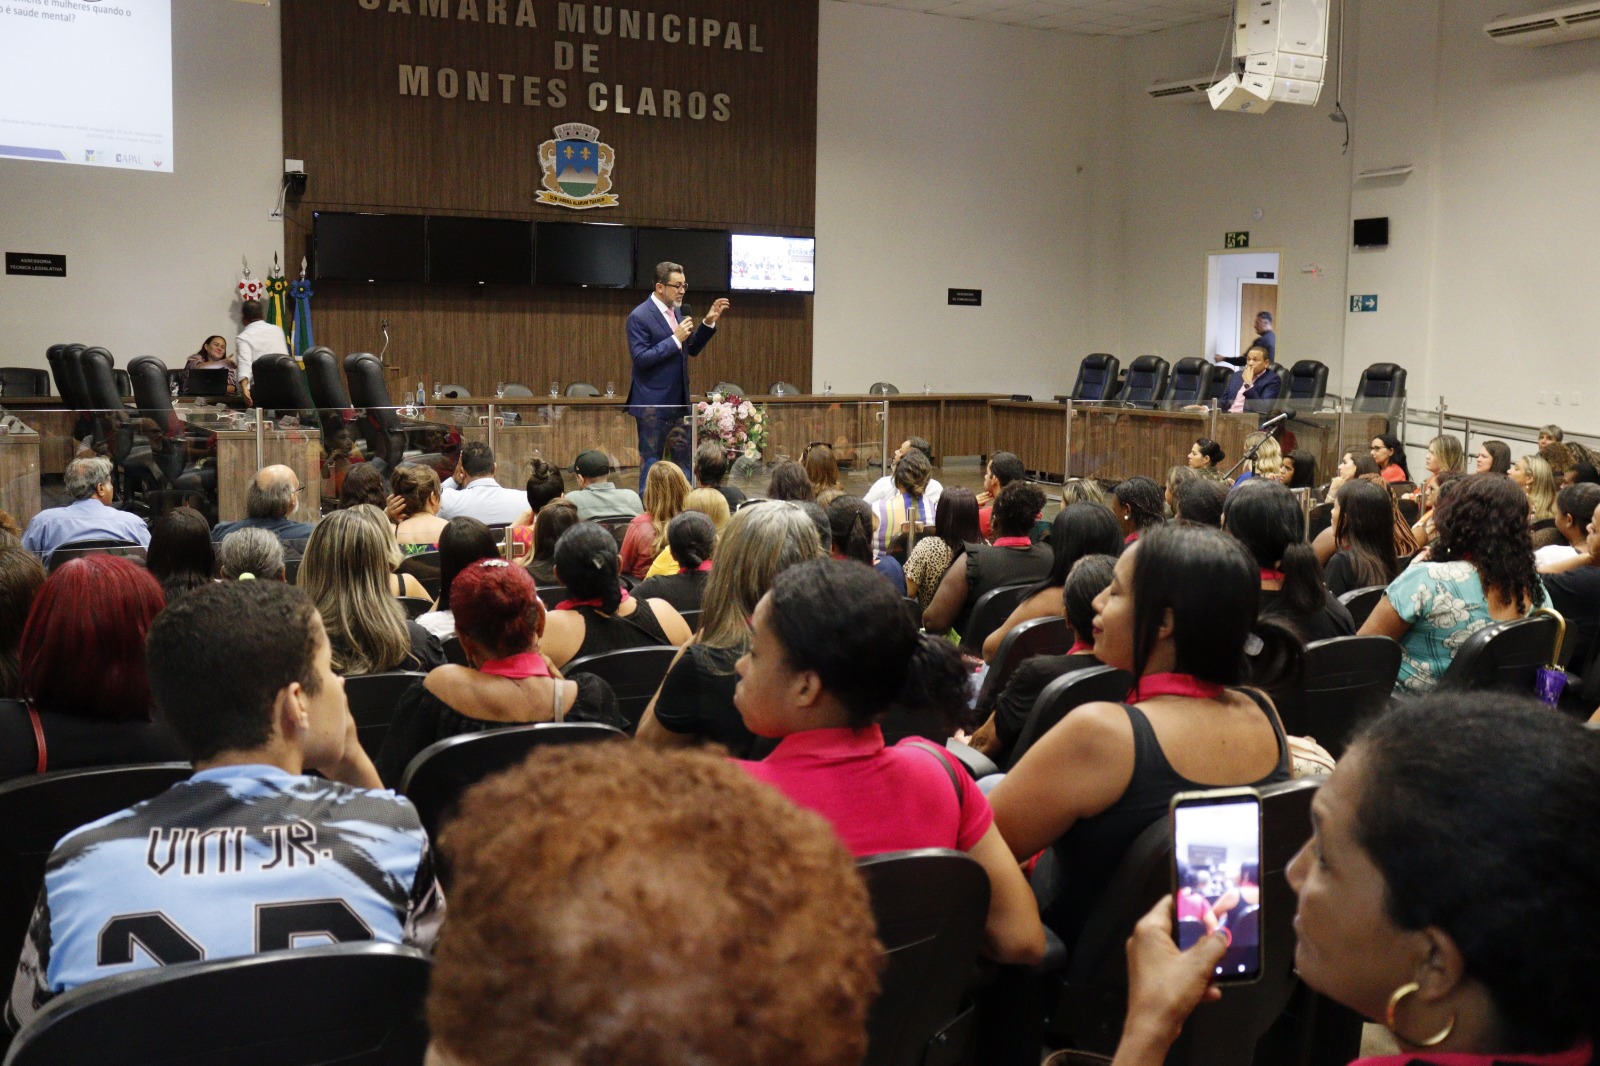
[[[1261,797],[1254,789],[1173,797],[1173,933],[1179,949],[1222,932],[1218,981],[1261,976]]]

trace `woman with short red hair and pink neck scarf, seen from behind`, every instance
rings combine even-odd
[[[464,733],[534,722],[627,727],[611,685],[594,674],[562,679],[550,671],[539,653],[544,603],[526,570],[478,559],[456,575],[450,605],[467,666],[435,667],[400,698],[376,759],[386,784],[398,787],[429,744]]]

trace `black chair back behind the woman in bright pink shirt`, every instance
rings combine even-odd
[[[962,1061],[989,876],[974,858],[947,848],[874,855],[856,868],[886,956],[882,991],[867,1012],[866,1066]]]

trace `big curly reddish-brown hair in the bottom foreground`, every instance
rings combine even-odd
[[[867,893],[829,824],[725,755],[547,747],[467,792],[429,1024],[474,1066],[858,1063]]]

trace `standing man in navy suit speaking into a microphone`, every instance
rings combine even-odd
[[[717,335],[726,298],[712,303],[699,325],[683,307],[688,282],[677,262],[656,264],[656,291],[627,315],[627,351],[634,359],[634,383],[627,389],[627,413],[638,421],[638,490],[645,475],[667,450],[667,434],[688,415],[690,363]],[[670,456],[688,469],[688,437]]]

